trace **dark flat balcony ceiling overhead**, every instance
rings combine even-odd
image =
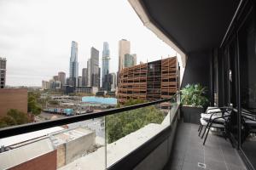
[[[142,0],[151,22],[185,53],[219,47],[239,0]]]

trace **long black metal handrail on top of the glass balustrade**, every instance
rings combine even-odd
[[[179,92],[174,94],[172,96],[172,98],[169,98],[169,99],[160,99],[160,100],[153,101],[153,102],[125,106],[122,108],[111,109],[108,111],[100,111],[100,112],[88,113],[88,114],[84,114],[84,115],[62,117],[62,118],[59,118],[56,120],[49,120],[49,121],[44,121],[44,122],[33,122],[33,123],[27,123],[27,124],[17,125],[17,126],[13,126],[13,127],[4,127],[4,128],[0,129],[0,139],[18,135],[18,134],[22,134],[22,133],[31,133],[31,132],[42,130],[42,129],[49,128],[49,127],[62,126],[62,125],[66,125],[66,124],[73,123],[73,122],[86,121],[89,119],[98,118],[98,117],[102,117],[102,116],[118,114],[123,111],[132,111],[132,110],[136,110],[136,109],[143,108],[146,106],[160,104],[163,102],[170,101],[171,99],[174,99],[177,96],[177,94],[179,94]]]

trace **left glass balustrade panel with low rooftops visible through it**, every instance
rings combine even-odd
[[[100,117],[0,139],[0,169],[105,169],[104,122]]]

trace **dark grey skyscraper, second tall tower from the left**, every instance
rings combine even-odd
[[[90,48],[90,77],[90,85],[100,88],[99,51],[94,47]]]

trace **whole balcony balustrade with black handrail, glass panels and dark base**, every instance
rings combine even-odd
[[[178,112],[179,94],[172,99],[5,127],[0,129],[0,168],[144,169],[150,164],[162,168],[171,152]],[[155,152],[162,152],[165,160],[152,164]],[[42,166],[45,161],[49,163]]]

